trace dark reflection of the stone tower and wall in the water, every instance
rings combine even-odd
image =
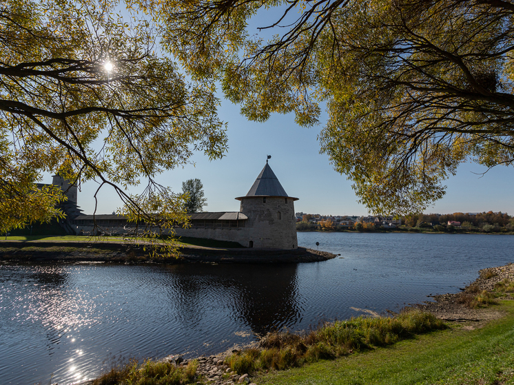
[[[226,312],[257,335],[298,318],[296,264],[181,265],[167,267],[173,274],[167,292],[178,317],[186,324],[201,323],[211,311]]]

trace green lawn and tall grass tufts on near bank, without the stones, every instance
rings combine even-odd
[[[440,329],[441,324],[433,323],[426,313],[406,314],[400,320],[377,318],[364,322],[366,319],[357,319],[329,324],[309,333],[310,337],[304,336],[311,342],[318,340],[325,344],[322,350],[330,359],[315,353],[315,350],[320,353],[319,345],[316,349],[302,348],[300,340],[285,340],[276,334],[265,341],[267,347],[259,352],[248,349],[228,357],[225,362],[238,368],[240,373],[256,371],[251,382],[259,385],[514,384],[514,301],[504,300],[495,306],[506,316],[474,330],[458,324]],[[380,337],[378,331],[385,332],[384,337]],[[274,346],[279,347],[274,351]],[[314,353],[310,358],[298,354],[309,350]],[[273,351],[275,354],[271,353]],[[333,359],[337,351],[340,357]],[[303,357],[296,364],[291,360],[295,354]],[[265,373],[266,367],[279,368],[280,363],[282,369],[290,367]],[[295,365],[301,366],[291,367]],[[227,373],[225,380],[230,377],[234,377],[233,373]],[[133,362],[103,373],[93,384],[208,383],[207,376],[196,371],[194,360],[183,367]]]

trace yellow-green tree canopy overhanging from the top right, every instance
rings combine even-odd
[[[422,211],[466,160],[513,163],[511,1],[138,3],[189,73],[219,80],[248,118],[294,112],[309,126],[326,103],[321,151],[372,211]],[[249,33],[259,12],[270,40]]]

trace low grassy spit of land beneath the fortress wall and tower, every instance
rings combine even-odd
[[[0,241],[0,260],[8,262],[103,263],[300,263],[336,258],[325,251],[184,246],[178,256],[150,256],[145,244],[78,241]]]

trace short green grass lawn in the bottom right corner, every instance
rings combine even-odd
[[[460,326],[388,348],[254,377],[257,384],[514,384],[514,301],[506,317],[472,331]]]

